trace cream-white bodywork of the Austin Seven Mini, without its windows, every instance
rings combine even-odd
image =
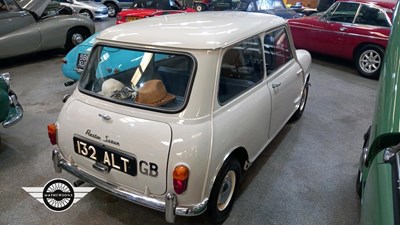
[[[190,54],[196,69],[189,100],[181,110],[165,113],[114,104],[77,87],[58,119],[59,150],[98,179],[157,201],[164,201],[166,193],[174,193],[173,170],[176,165],[186,165],[190,170],[188,187],[177,195],[178,207],[207,202],[224,160],[236,149],[244,149],[247,169],[299,108],[311,57],[306,51],[296,52],[291,38],[292,60],[271,75],[265,72],[255,86],[232,100],[221,104],[217,99],[224,52],[277,27],[290,34],[286,21],[275,16],[204,12],[159,16],[106,29],[97,36],[95,47]],[[277,83],[278,88],[272,87]],[[102,120],[98,115],[103,113],[112,119]],[[158,176],[140,174],[140,168],[136,177],[112,169],[107,174],[95,171],[93,161],[77,155],[72,142],[74,135],[85,136],[88,129],[102,137],[113,137],[120,143],[114,147],[134,155],[138,162],[156,163]],[[131,181],[125,181],[129,178]]]

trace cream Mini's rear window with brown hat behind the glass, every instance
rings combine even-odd
[[[186,102],[193,68],[188,55],[97,46],[79,89],[124,105],[176,111]]]

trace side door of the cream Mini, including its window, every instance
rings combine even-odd
[[[269,138],[286,124],[300,101],[304,78],[293,50],[286,27],[264,36],[267,81],[272,99]]]

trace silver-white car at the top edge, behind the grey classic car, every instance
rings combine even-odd
[[[59,0],[61,5],[70,7],[75,12],[90,17],[91,19],[108,18],[108,8],[98,2],[89,0]]]

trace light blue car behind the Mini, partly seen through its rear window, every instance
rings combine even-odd
[[[99,34],[99,32],[93,34],[84,42],[73,48],[63,58],[62,72],[65,77],[73,81],[65,83],[66,85],[73,84],[79,80],[86,62],[89,59],[89,54],[92,51],[96,37]],[[112,47],[105,47],[103,48],[103,51],[106,51],[107,54],[113,57],[104,57],[101,64],[99,64],[99,68],[97,69],[100,72],[97,74],[101,74],[102,77],[108,77],[121,71],[129,70],[132,67],[137,67],[143,57],[142,51],[131,51]],[[155,61],[164,58],[166,58],[164,54],[155,55]]]

